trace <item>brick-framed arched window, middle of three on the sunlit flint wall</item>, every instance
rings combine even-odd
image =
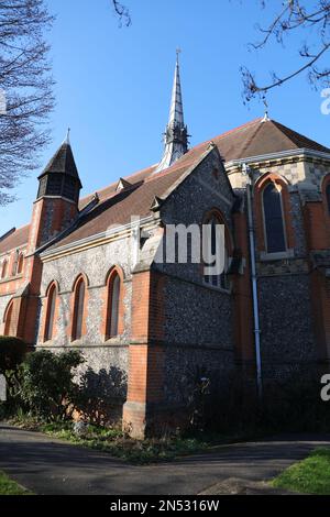
[[[79,275],[73,287],[72,301],[72,341],[78,341],[86,334],[87,318],[87,287],[88,278],[86,275]]]

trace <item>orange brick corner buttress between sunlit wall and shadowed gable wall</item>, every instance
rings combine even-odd
[[[165,277],[156,272],[133,275],[132,338],[123,428],[135,438],[144,438],[162,420],[157,407],[164,397],[164,285]]]

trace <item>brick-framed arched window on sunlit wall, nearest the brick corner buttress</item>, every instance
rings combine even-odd
[[[102,333],[106,341],[121,336],[124,331],[123,279],[121,267],[111,267],[107,275],[105,292]]]

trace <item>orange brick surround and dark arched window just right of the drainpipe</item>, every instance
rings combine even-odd
[[[288,184],[273,173],[263,175],[254,188],[257,249],[280,253],[295,245]]]

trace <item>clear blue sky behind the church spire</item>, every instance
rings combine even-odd
[[[53,142],[41,162],[46,164],[70,127],[82,195],[160,161],[177,46],[194,145],[263,114],[263,105],[243,105],[241,65],[265,79],[273,69],[290,72],[302,42],[299,34],[285,48],[249,52],[248,43],[257,38],[255,23],[272,14],[258,0],[122,1],[133,23],[120,29],[111,0],[48,0],[57,16],[48,35],[57,105]],[[305,77],[273,90],[268,103],[271,118],[330,145],[330,119]],[[38,174],[22,179],[18,200],[0,209],[0,234],[30,221]]]

